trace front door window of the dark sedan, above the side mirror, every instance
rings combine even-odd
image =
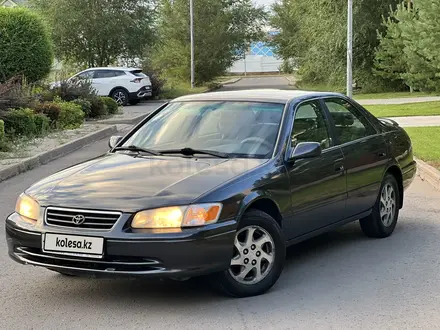
[[[318,142],[323,150],[333,145],[328,123],[318,102],[302,104],[296,110],[291,136],[292,147],[300,142]]]

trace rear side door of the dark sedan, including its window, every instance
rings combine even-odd
[[[323,100],[334,123],[336,142],[344,154],[347,171],[346,217],[369,210],[376,201],[387,163],[382,134],[347,99]]]

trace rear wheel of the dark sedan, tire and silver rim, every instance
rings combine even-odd
[[[399,217],[399,201],[400,192],[396,178],[386,174],[372,213],[359,221],[364,234],[374,238],[390,236],[396,228]]]

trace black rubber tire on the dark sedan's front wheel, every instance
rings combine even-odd
[[[236,246],[246,241],[249,232],[253,232],[253,242],[263,235],[267,242],[261,248],[252,243],[240,245],[240,253]],[[233,250],[230,268],[211,277],[215,288],[232,297],[250,297],[265,293],[277,282],[284,268],[286,244],[280,226],[270,215],[259,210],[247,211],[239,223]],[[264,253],[267,258],[273,256],[272,263],[265,259]],[[245,258],[245,254],[249,257]],[[233,261],[236,264],[232,265]],[[261,276],[264,276],[257,281],[258,266]],[[238,280],[239,275],[242,280]]]

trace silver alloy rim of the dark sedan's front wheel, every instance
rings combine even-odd
[[[272,236],[260,226],[240,229],[234,242],[230,275],[241,284],[261,282],[271,271],[275,261]]]

